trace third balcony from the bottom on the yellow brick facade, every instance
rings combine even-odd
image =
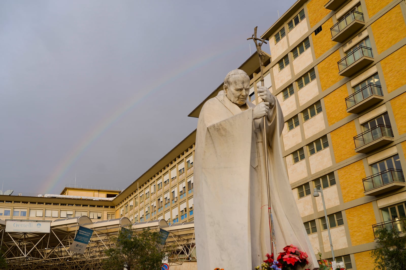
[[[377,125],[354,137],[355,152],[368,153],[378,147],[393,142],[393,132],[389,125]]]

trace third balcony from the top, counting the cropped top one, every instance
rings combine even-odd
[[[338,64],[338,74],[345,77],[350,77],[352,74],[361,70],[374,62],[372,49],[360,46],[341,59]]]

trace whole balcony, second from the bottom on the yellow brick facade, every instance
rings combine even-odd
[[[364,194],[377,196],[406,186],[402,170],[388,169],[362,179]]]

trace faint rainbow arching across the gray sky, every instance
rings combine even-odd
[[[228,48],[227,50],[222,50],[222,51],[214,51],[214,53],[207,54],[207,55],[202,55],[197,59],[195,64],[186,62],[183,66],[179,67],[176,70],[172,70],[172,72],[168,73],[166,77],[162,77],[159,81],[155,82],[155,87],[151,87],[149,91],[146,91],[145,94],[134,94],[132,98],[127,99],[125,103],[121,104],[121,106],[118,106],[112,114],[110,114],[109,117],[106,119],[102,119],[95,125],[93,128],[91,128],[85,136],[82,138],[82,140],[79,141],[79,143],[73,147],[67,155],[58,163],[56,168],[52,171],[50,176],[43,182],[43,186],[40,190],[45,191],[45,193],[52,193],[54,192],[54,189],[60,182],[60,180],[63,179],[65,174],[69,171],[69,169],[75,164],[75,162],[82,156],[82,154],[86,151],[86,149],[89,148],[89,146],[92,145],[93,142],[97,140],[106,130],[108,130],[114,123],[119,121],[124,115],[129,113],[132,108],[134,108],[137,104],[145,100],[149,95],[157,91],[158,89],[161,89],[165,85],[172,83],[173,81],[184,77],[186,74],[192,72],[193,70],[196,70],[197,68],[200,68],[202,66],[205,66],[209,64],[210,62],[224,57],[226,55],[229,55],[231,53],[236,53],[238,51],[242,51],[246,49],[247,45],[240,44],[235,47]]]

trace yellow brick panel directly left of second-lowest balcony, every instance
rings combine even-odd
[[[344,202],[365,196],[362,183],[362,179],[365,178],[365,170],[362,160],[338,169],[337,173]]]

